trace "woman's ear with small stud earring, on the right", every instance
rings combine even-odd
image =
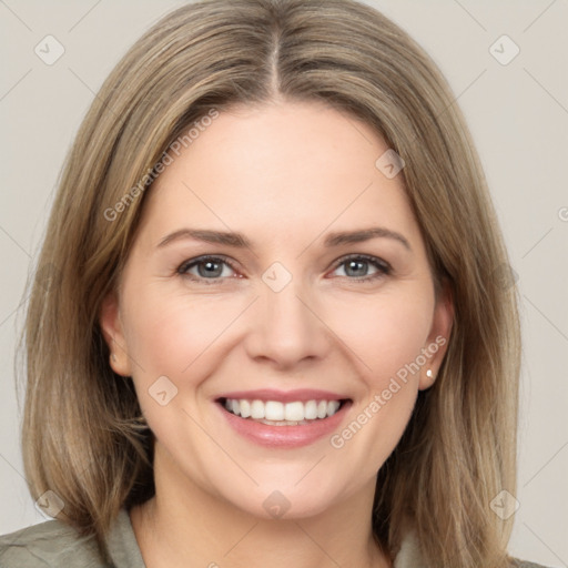
[[[423,354],[426,363],[420,368],[418,389],[425,390],[434,385],[436,377],[446,355],[452,325],[454,323],[454,300],[452,288],[447,281],[444,281],[442,290],[436,298],[432,329],[424,345]]]

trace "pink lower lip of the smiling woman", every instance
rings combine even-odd
[[[221,404],[215,404],[229,425],[251,442],[272,448],[297,448],[308,446],[337,429],[352,403],[351,400],[343,403],[333,416],[311,420],[308,424],[298,426],[270,426],[250,418],[235,416]]]

